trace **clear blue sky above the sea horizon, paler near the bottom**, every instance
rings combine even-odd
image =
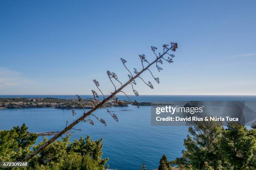
[[[256,95],[255,0],[1,0],[0,95],[91,94],[93,79],[110,94],[106,70],[128,80],[120,57],[139,70],[169,42],[174,62],[141,95]]]

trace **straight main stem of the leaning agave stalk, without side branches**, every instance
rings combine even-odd
[[[177,44],[176,44],[177,45]],[[176,50],[177,47],[175,47],[175,49],[173,51]],[[151,47],[151,49],[153,50],[153,48]],[[170,49],[167,49],[166,52],[168,52]],[[153,50],[154,52],[154,50]],[[115,92],[111,93],[111,95],[109,95],[108,97],[106,97],[104,100],[102,100],[99,104],[97,104],[95,107],[93,107],[91,110],[87,111],[84,115],[82,115],[81,117],[79,117],[76,121],[72,122],[70,125],[67,126],[67,128],[64,128],[63,130],[61,130],[59,133],[57,133],[56,135],[54,135],[51,139],[49,139],[46,143],[44,143],[43,145],[41,145],[39,148],[37,148],[36,150],[33,151],[33,153],[30,153],[28,156],[26,156],[23,161],[28,161],[30,160],[33,156],[35,156],[36,154],[38,154],[41,150],[43,150],[44,148],[46,148],[48,145],[50,145],[51,143],[53,143],[56,139],[58,139],[61,135],[63,135],[64,133],[66,133],[68,130],[72,129],[74,127],[74,125],[76,125],[78,122],[80,122],[81,120],[84,120],[84,118],[86,118],[87,116],[91,115],[92,112],[94,112],[95,110],[97,110],[98,108],[100,108],[102,105],[104,105],[105,102],[107,102],[108,100],[110,100],[112,97],[114,97],[118,92],[120,92],[121,90],[123,90],[124,87],[126,87],[128,84],[130,84],[134,79],[136,79],[137,77],[139,77],[144,71],[146,71],[151,65],[153,65],[154,63],[156,63],[159,59],[161,59],[166,52],[164,52],[163,54],[161,54],[159,57],[157,57],[156,55],[156,59],[151,62],[148,66],[146,66],[144,69],[142,69],[140,72],[138,72],[138,74],[136,74],[134,77],[132,77],[130,80],[128,80],[127,82],[125,82],[125,84],[123,84],[121,87],[119,87],[117,90],[115,90]],[[154,52],[154,54],[156,54]]]

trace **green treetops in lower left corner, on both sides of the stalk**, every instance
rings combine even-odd
[[[37,135],[27,132],[23,124],[20,128],[0,131],[0,160],[20,161],[29,153],[36,142]],[[47,138],[33,149],[47,142]],[[102,170],[108,158],[102,159],[102,139],[93,141],[89,136],[86,140],[74,139],[69,136],[56,140],[51,145],[34,156],[29,162],[29,170]]]

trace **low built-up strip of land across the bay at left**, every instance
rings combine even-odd
[[[81,100],[82,105],[85,108],[93,108],[93,99]],[[101,102],[101,100],[97,100]],[[122,106],[128,106],[131,104],[129,101],[121,101]],[[106,107],[120,106],[114,101],[108,101],[105,103]],[[33,107],[54,107],[58,109],[73,109],[82,108],[79,100],[77,99],[59,99],[59,98],[0,98],[0,108],[33,108]]]

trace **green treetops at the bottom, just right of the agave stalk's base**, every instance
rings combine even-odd
[[[39,143],[34,149],[37,149],[48,141]],[[51,143],[31,160],[33,169],[55,169],[55,170],[102,170],[108,158],[102,159],[102,139],[92,141],[89,136],[86,140],[74,139],[69,142],[69,136],[63,137]]]

